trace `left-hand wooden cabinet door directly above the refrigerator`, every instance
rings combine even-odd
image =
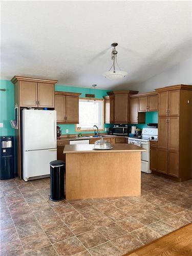
[[[38,106],[37,103],[37,83],[19,81],[20,106]]]

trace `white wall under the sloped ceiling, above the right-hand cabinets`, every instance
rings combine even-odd
[[[145,82],[137,83],[130,90],[141,92],[151,92],[156,88],[172,86],[174,84],[192,84],[192,59],[188,58],[176,66],[151,77]]]

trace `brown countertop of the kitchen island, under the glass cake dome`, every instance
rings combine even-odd
[[[85,145],[65,145],[63,154],[68,153],[108,153],[108,152],[143,152],[146,151],[134,144],[114,144],[111,150],[94,150],[93,144]]]

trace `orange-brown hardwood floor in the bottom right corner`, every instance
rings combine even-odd
[[[188,224],[126,256],[189,256],[192,255],[192,224]]]

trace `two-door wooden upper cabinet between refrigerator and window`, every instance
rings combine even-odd
[[[57,123],[79,123],[79,95],[81,93],[55,92]]]

